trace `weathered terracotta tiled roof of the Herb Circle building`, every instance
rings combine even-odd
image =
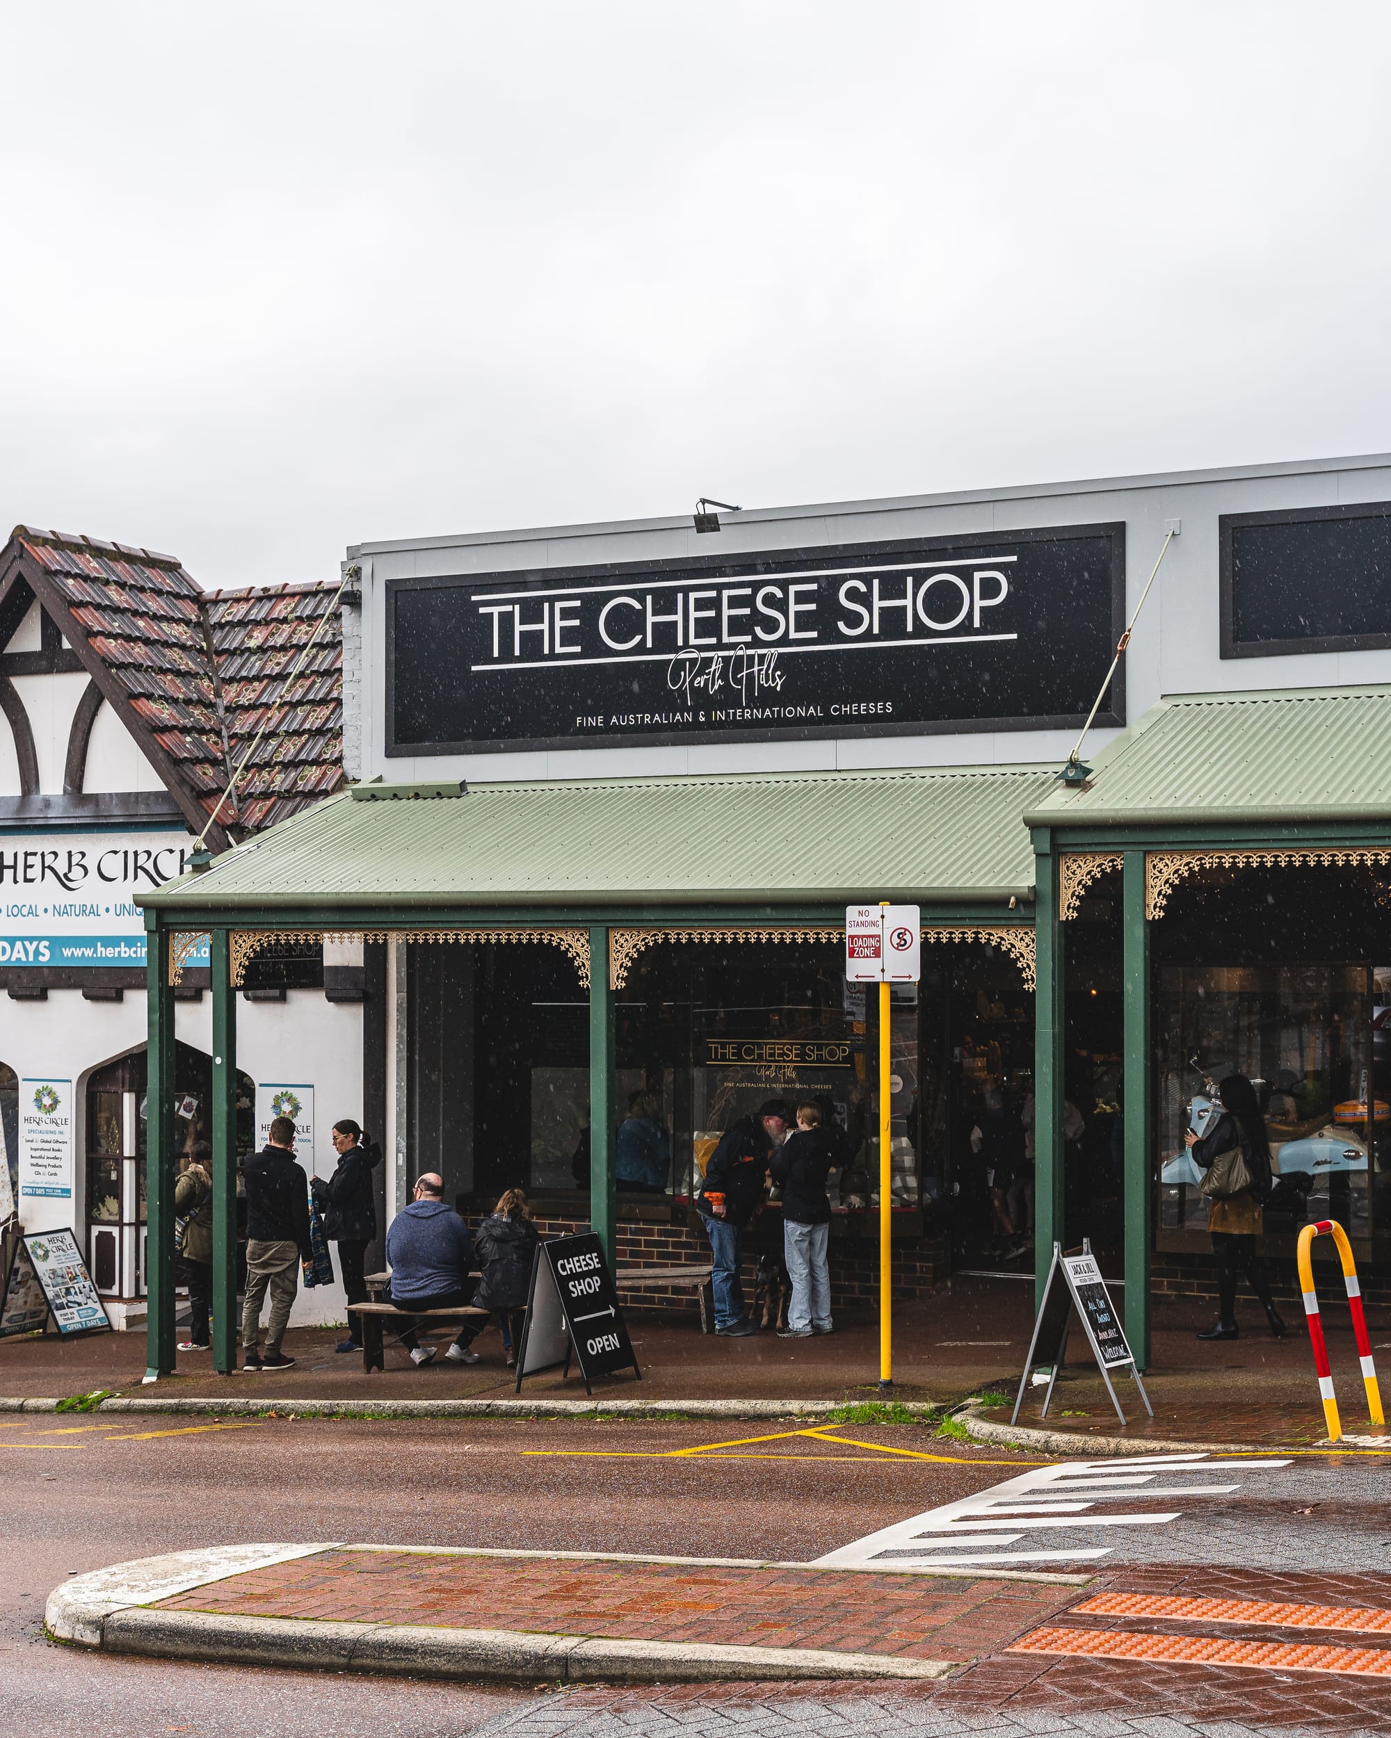
[[[174,556],[28,525],[14,528],[5,554],[19,554],[94,681],[198,813],[214,813],[263,725],[233,803],[217,817],[235,836],[344,782],[336,584],[202,591]]]

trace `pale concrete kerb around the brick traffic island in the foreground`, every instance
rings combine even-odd
[[[158,1611],[170,1599],[249,1569],[311,1557],[336,1545],[217,1545],[143,1557],[77,1575],[49,1595],[45,1627],[59,1641],[104,1653],[283,1665],[294,1670],[506,1682],[671,1684],[763,1679],[934,1679],[948,1660],[833,1653],[819,1648],[734,1648],[716,1642],[622,1641],[523,1630],[341,1623],[207,1611]]]

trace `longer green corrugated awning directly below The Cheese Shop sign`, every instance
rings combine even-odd
[[[1036,766],[358,786],[141,904],[198,909],[1003,904],[1033,897]],[[400,793],[393,796],[391,793]]]

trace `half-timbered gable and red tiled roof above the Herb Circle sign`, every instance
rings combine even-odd
[[[198,833],[252,749],[209,829],[221,848],[343,782],[339,664],[334,586],[203,593],[174,556],[16,527],[0,549],[0,805],[38,824],[158,812]]]

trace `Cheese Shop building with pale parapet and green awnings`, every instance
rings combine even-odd
[[[904,1291],[1090,1236],[1148,1357],[1156,1288],[1212,1286],[1177,1161],[1233,1069],[1309,1184],[1268,1253],[1292,1269],[1332,1211],[1384,1284],[1391,457],[363,544],[344,572],[349,787],[141,899],[162,1072],[193,937],[214,1031],[263,951],[362,945],[388,1210],[436,1168],[466,1211],[520,1182],[621,1257],[696,1258],[722,1128],[815,1097],[849,1151],[833,1269],[868,1302],[878,1032],[843,907],[916,902]],[[1031,1250],[993,1168],[1033,1175]]]

